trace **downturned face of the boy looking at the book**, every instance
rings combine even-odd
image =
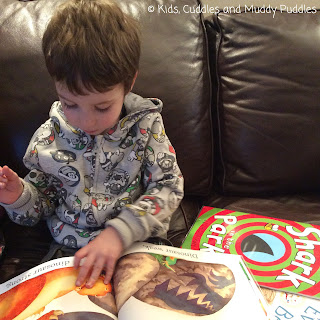
[[[125,97],[122,83],[100,93],[85,91],[75,95],[61,82],[55,82],[63,112],[71,126],[96,136],[115,126],[119,121]]]

